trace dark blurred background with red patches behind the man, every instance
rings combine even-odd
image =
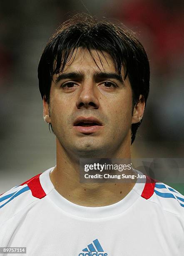
[[[0,1],[0,194],[55,165],[55,137],[42,118],[37,66],[51,34],[75,13],[121,20],[137,32],[147,51],[150,94],[133,157],[184,157],[182,3]],[[171,185],[184,192],[184,184]]]

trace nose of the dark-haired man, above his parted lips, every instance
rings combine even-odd
[[[80,95],[76,101],[76,107],[80,108],[99,108],[99,100],[94,92],[94,83],[84,82],[82,84]]]

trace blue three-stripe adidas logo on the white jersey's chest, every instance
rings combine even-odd
[[[87,247],[82,250],[84,253],[79,253],[79,256],[108,256],[107,253],[104,253],[104,250],[102,249],[98,239],[95,239],[93,244],[88,244]]]

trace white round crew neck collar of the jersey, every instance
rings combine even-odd
[[[101,207],[86,207],[81,205],[76,205],[65,197],[60,195],[55,189],[54,185],[50,180],[50,172],[54,169],[54,167],[46,170],[40,175],[40,184],[44,189],[47,197],[50,200],[60,207],[62,211],[67,213],[68,215],[73,215],[78,218],[88,218],[88,219],[100,219],[100,218],[111,218],[116,215],[122,214],[125,210],[131,207],[134,202],[141,196],[142,191],[144,189],[144,185],[146,180],[142,180],[140,182],[139,178],[135,183],[132,190],[119,202],[116,202],[112,205],[101,206]],[[137,173],[142,174],[137,171]]]

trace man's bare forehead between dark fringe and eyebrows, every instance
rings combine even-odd
[[[110,54],[105,51],[78,48],[69,55],[63,73],[72,71],[85,72],[87,74],[97,71],[115,72],[114,61]]]

